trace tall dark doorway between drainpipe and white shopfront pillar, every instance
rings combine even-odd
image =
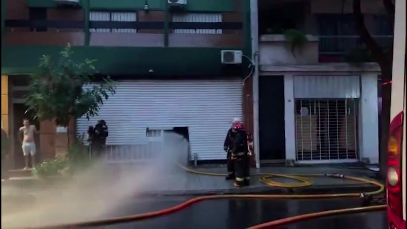
[[[258,91],[260,160],[283,160],[284,76],[260,76]]]

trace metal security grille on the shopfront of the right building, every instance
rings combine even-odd
[[[296,99],[297,160],[357,159],[357,99]]]

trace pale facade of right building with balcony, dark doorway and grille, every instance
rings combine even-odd
[[[257,166],[379,163],[380,68],[365,55],[352,1],[257,4],[258,27],[251,30],[258,40],[258,48],[253,45]],[[389,47],[392,28],[382,1],[361,1],[361,9],[370,34]],[[306,36],[301,48],[294,49],[286,34],[293,30]]]

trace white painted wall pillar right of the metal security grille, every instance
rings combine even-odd
[[[377,73],[363,73],[359,102],[359,159],[379,163],[379,104]]]

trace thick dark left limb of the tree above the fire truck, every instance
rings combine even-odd
[[[385,1],[385,0],[384,0]],[[364,16],[360,7],[360,0],[353,0],[353,15],[355,27],[360,39],[371,52],[373,59],[379,64],[384,80],[391,79],[391,62],[382,48],[376,43],[366,28]]]

